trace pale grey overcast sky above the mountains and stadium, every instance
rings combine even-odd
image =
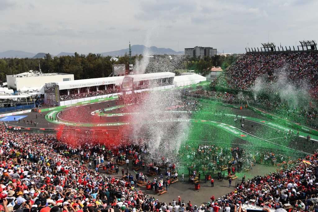
[[[269,42],[292,46],[318,40],[317,8],[315,0],[0,0],[0,52],[98,53],[129,40],[245,52],[268,31]]]

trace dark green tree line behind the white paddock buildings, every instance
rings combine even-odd
[[[39,64],[42,73],[68,73],[74,74],[74,79],[90,79],[108,77],[113,70],[114,64],[125,64],[129,69],[129,55],[117,57],[112,60],[111,56],[89,53],[88,55],[75,52],[74,56],[52,57],[49,53],[44,58],[3,58],[0,59],[0,80],[6,81],[6,75],[14,75],[29,70],[38,71]],[[184,55],[155,55],[154,57],[143,58],[142,55],[132,56],[134,68],[144,68],[142,63],[146,63],[144,72],[163,72],[175,70],[195,70],[196,73],[207,75],[207,68],[221,66],[226,68],[238,58],[237,55],[205,58],[188,58]],[[176,72],[177,74],[177,72]]]

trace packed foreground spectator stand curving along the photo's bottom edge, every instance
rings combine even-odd
[[[144,166],[147,150],[141,145],[106,147],[102,152],[100,145],[86,142],[86,146],[72,147],[49,134],[9,132],[1,127],[0,135],[0,199],[3,202],[0,208],[5,212],[98,212],[108,208],[122,212],[126,209],[133,212],[211,212],[212,208],[214,211],[240,208],[241,211],[243,203],[274,209],[290,203],[294,211],[318,210],[318,153],[303,158],[305,162],[301,159],[287,161],[288,166],[275,173],[253,179],[243,177],[228,195],[211,196],[211,200],[207,200],[210,202],[196,207],[191,201],[181,202],[181,198],[171,200],[170,205],[161,202],[160,198],[146,195],[135,188],[134,175],[128,179],[100,173],[103,164],[118,172],[114,161],[124,161],[128,156],[133,156],[132,163],[138,160],[138,165]],[[78,160],[72,157],[76,154]],[[114,158],[114,161],[104,161],[107,157]],[[274,155],[266,153],[265,157],[273,160]],[[94,169],[86,161],[89,158],[94,162]],[[122,175],[125,173],[130,171],[123,168]],[[142,175],[137,173],[136,176]]]

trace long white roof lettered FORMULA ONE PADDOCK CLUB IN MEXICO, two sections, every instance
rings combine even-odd
[[[174,77],[175,74],[172,72],[158,72],[158,73],[149,73],[149,74],[135,74],[135,75],[128,75],[128,76],[133,77],[134,82],[136,82],[136,81],[142,81],[142,80]],[[79,80],[63,81],[63,82],[57,82],[57,84],[59,85],[60,90],[64,90],[64,89],[82,88],[82,87],[90,87],[90,86],[98,86],[98,85],[110,85],[110,84],[120,85],[123,79],[124,79],[124,76],[104,77],[104,78],[94,78],[94,79],[79,79]]]

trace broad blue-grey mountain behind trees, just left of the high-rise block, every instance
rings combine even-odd
[[[147,47],[144,45],[132,45],[131,46],[131,54],[132,55],[140,55],[144,54],[144,52],[149,53],[150,55],[153,54],[183,54],[183,51],[176,52],[172,49],[166,49],[166,48],[158,48],[156,46]],[[102,52],[101,55],[104,56],[121,56],[125,53],[129,54],[129,48],[127,49],[121,49],[117,51],[108,51],[108,52]]]

